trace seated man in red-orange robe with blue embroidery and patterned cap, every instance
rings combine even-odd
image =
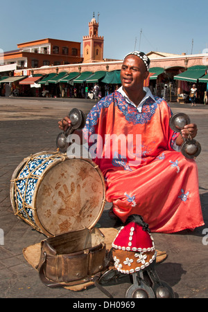
[[[96,138],[93,160],[103,172],[106,200],[116,217],[124,223],[130,214],[140,214],[152,232],[193,229],[204,225],[198,170],[195,160],[177,151],[182,136],[194,138],[197,127],[186,125],[182,136],[171,130],[170,107],[143,87],[149,65],[139,51],[125,57],[121,88],[92,108],[83,134],[89,144]],[[70,124],[65,117],[59,127],[66,130]]]

